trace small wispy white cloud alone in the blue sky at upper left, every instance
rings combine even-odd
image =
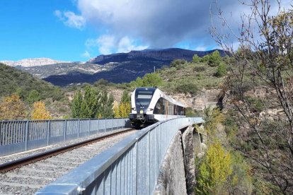
[[[65,25],[71,28],[78,28],[82,30],[86,25],[86,19],[83,16],[78,16],[72,11],[64,11],[63,13],[59,10],[54,11],[54,15],[59,18]]]

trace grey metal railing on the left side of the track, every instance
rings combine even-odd
[[[128,119],[0,121],[0,156],[125,127]]]

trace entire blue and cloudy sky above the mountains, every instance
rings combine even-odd
[[[217,2],[232,28],[239,28],[240,14],[249,8],[236,0]],[[214,0],[1,0],[0,61],[88,61],[131,50],[215,49],[211,18],[214,25],[221,23],[213,13]]]

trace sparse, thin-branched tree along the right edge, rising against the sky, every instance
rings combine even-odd
[[[234,148],[253,160],[255,175],[270,182],[271,193],[293,194],[293,11],[277,4],[274,15],[270,1],[252,0],[239,34],[212,28],[212,35],[233,58],[223,90],[239,126]],[[218,16],[231,29],[222,11]],[[231,39],[239,41],[239,51]],[[264,110],[255,109],[255,98]]]

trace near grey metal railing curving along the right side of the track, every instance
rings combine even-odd
[[[178,118],[148,126],[37,194],[153,194],[161,162],[178,129],[202,122]]]

